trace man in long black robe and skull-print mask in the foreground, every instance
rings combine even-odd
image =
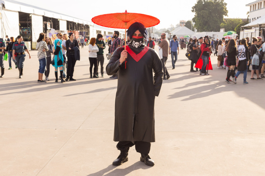
[[[127,36],[130,43],[126,50],[117,48],[106,66],[108,75],[117,73],[119,77],[114,141],[118,141],[121,153],[113,165],[128,161],[129,148],[135,145],[136,152],[141,153],[140,161],[153,166],[148,153],[151,142],[155,142],[154,104],[162,85],[163,67],[157,52],[144,46],[147,31],[142,23],[133,23]]]

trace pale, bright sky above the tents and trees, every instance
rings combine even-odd
[[[228,17],[224,18],[247,18],[249,7],[246,4],[255,0],[224,0],[227,3]],[[149,0],[149,1],[110,1],[110,0],[66,0],[66,1],[36,1],[23,0],[26,4],[41,6],[42,8],[56,11],[75,18],[91,21],[94,16],[108,14],[134,12],[157,17],[160,20],[155,28],[168,28],[170,24],[176,25],[180,20],[191,20],[194,13],[192,6],[197,0]],[[119,4],[115,3],[118,2]],[[138,7],[137,7],[138,6]],[[59,8],[60,7],[60,8]],[[75,9],[75,10],[70,10]]]

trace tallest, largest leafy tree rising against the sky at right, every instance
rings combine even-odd
[[[192,7],[195,16],[192,21],[197,31],[220,31],[223,16],[227,16],[227,3],[224,0],[197,0]]]

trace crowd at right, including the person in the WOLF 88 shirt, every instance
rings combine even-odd
[[[251,72],[250,80],[262,80],[265,69],[264,57],[265,45],[261,37],[253,37],[250,44],[249,37],[238,40],[238,36],[233,35],[232,39],[212,40],[210,43],[209,37],[205,36],[197,39],[193,36],[189,43],[186,56],[191,60],[191,72],[196,72],[200,69],[200,75],[209,75],[208,69],[211,68],[209,60],[211,53],[217,57],[217,69],[226,69],[227,83],[235,83],[240,73],[244,73],[243,84],[248,84],[246,81],[247,72]],[[256,55],[256,56],[255,56]],[[254,63],[255,59],[258,61]],[[200,64],[200,59],[202,65]],[[194,64],[196,70],[194,70]],[[206,72],[207,65],[207,72]],[[251,70],[250,70],[251,68]],[[235,72],[237,69],[237,73]],[[256,74],[257,78],[254,78]],[[260,74],[260,77],[259,77]],[[232,79],[230,77],[232,76]]]

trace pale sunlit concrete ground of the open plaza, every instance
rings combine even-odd
[[[156,46],[157,49],[157,46]],[[107,53],[107,49],[105,51]],[[227,84],[227,71],[210,75],[189,72],[190,61],[180,50],[176,68],[166,64],[156,97],[156,142],[150,156],[155,166],[144,165],[132,147],[129,161],[112,162],[119,155],[113,141],[117,80],[89,78],[88,47],[81,49],[74,78],[37,83],[37,52],[26,57],[24,76],[7,70],[0,78],[0,175],[265,175],[265,80],[243,74]],[[108,63],[106,57],[104,70]]]

